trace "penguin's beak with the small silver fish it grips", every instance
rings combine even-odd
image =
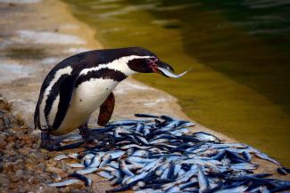
[[[173,73],[174,69],[169,64],[167,64],[161,60],[154,61],[152,68],[153,68],[153,72],[155,72],[155,73],[161,74],[161,75],[166,76],[166,77],[173,77],[173,78],[178,78],[178,77],[184,76],[188,71],[187,70],[179,75],[176,75]]]

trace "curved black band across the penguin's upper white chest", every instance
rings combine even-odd
[[[113,81],[120,82],[124,80],[127,76],[120,72],[119,70],[114,70],[110,68],[101,68],[94,71],[87,72],[86,75],[79,76],[76,87],[79,86],[79,84],[82,84],[83,82],[87,82],[90,79],[93,78],[103,78],[103,79],[112,79]]]

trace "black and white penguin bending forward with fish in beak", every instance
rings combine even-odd
[[[103,140],[106,134],[87,128],[90,115],[99,109],[98,125],[106,125],[115,105],[113,89],[136,73],[174,71],[153,52],[141,47],[81,52],[56,64],[46,76],[37,101],[34,124],[41,130],[41,147],[61,149],[63,136],[79,129],[85,142]]]

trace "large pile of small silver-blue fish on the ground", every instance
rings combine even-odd
[[[92,180],[96,173],[115,186],[108,192],[133,189],[137,193],[162,192],[279,192],[290,189],[290,181],[269,178],[269,173],[253,173],[259,157],[278,165],[278,172],[289,169],[258,149],[242,143],[224,143],[203,132],[190,133],[194,123],[168,116],[137,114],[142,120],[120,120],[95,129],[108,133],[113,148],[100,141],[94,148],[79,153],[62,154],[55,160],[76,159],[68,164],[75,173],[64,181],[51,183],[55,187]],[[79,135],[67,141],[79,141]]]

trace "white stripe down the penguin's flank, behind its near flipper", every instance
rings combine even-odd
[[[52,90],[54,84],[57,82],[57,80],[62,75],[70,75],[71,71],[72,71],[72,68],[71,67],[66,67],[66,68],[59,69],[54,74],[54,79],[47,86],[46,91],[44,93],[44,97],[43,97],[43,99],[41,101],[41,104],[40,104],[40,123],[41,123],[41,125],[47,125],[48,124],[48,123],[46,123],[45,108],[46,108],[46,100],[47,100],[47,97],[48,97],[49,93],[51,92],[51,90]],[[51,104],[51,105],[54,105],[54,106],[57,105],[58,106],[58,103],[57,104],[55,104],[55,103],[56,102],[54,101],[54,104]],[[51,113],[55,113],[56,114],[56,112],[51,112]],[[50,117],[49,118],[50,119],[49,122],[51,123],[53,121],[53,120],[51,120],[52,119],[51,117],[54,117],[55,118],[55,115],[51,115],[49,117]]]

